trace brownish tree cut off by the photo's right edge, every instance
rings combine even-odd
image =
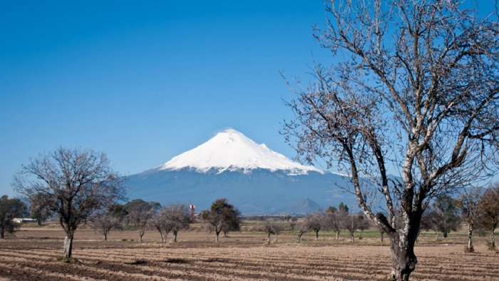
[[[483,213],[478,218],[478,224],[490,231],[490,250],[495,250],[494,230],[499,225],[499,183],[491,185],[483,193]]]

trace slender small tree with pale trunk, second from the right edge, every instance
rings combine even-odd
[[[467,252],[474,251],[471,236],[473,235],[473,230],[475,230],[475,223],[477,223],[478,218],[483,213],[483,203],[481,188],[465,190],[459,196],[458,200],[456,200],[456,205],[461,210],[461,216],[468,225],[468,248],[465,248]]]

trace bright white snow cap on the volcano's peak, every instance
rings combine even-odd
[[[197,148],[189,150],[160,165],[158,170],[180,170],[192,168],[200,173],[215,168],[222,173],[224,170],[249,170],[262,168],[272,172],[286,170],[289,175],[307,174],[308,171],[324,173],[312,166],[293,162],[263,143],[261,145],[235,130],[218,133],[217,136]]]

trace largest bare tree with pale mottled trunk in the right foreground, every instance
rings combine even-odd
[[[308,84],[288,81],[297,99],[287,141],[298,158],[350,175],[360,208],[389,236],[392,280],[416,268],[429,200],[498,163],[499,25],[479,14],[457,0],[326,1],[314,36],[337,63],[315,63]],[[400,181],[389,176],[397,170]]]

